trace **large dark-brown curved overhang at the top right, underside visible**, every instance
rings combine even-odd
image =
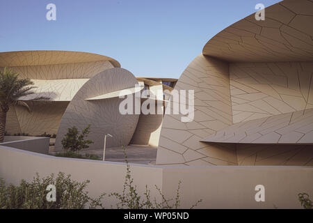
[[[220,31],[202,54],[230,62],[313,61],[313,2],[284,0]]]

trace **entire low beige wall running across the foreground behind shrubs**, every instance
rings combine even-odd
[[[0,176],[7,183],[19,183],[63,171],[75,180],[90,180],[91,196],[122,190],[126,167],[123,163],[52,157],[0,146]],[[182,180],[182,208],[202,199],[198,208],[300,208],[299,192],[313,196],[313,167],[169,167],[131,164],[131,176],[140,192],[154,185],[168,198],[175,197]],[[255,201],[255,186],[265,186],[265,202]],[[106,200],[106,207],[114,204]]]

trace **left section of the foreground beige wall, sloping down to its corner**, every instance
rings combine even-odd
[[[71,174],[73,179],[80,182],[90,180],[88,192],[92,197],[103,192],[122,192],[126,175],[125,164],[118,162],[54,157],[0,146],[0,177],[6,183],[18,184],[21,179],[33,180],[35,173],[47,176],[58,174],[59,171]],[[134,164],[131,165],[131,176],[141,193],[145,192],[145,185],[152,189],[152,197],[157,196],[154,185],[162,189],[161,168]],[[114,202],[113,199],[106,200],[106,208],[110,208]]]

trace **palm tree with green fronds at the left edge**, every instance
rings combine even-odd
[[[29,105],[25,101],[19,100],[22,96],[33,94],[31,89],[35,86],[31,79],[19,79],[19,74],[12,69],[4,68],[0,70],[0,142],[3,142],[6,132],[6,113],[10,106],[21,105],[29,109]],[[48,98],[40,97],[32,100],[45,100]]]

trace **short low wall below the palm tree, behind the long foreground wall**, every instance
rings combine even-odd
[[[10,146],[19,148],[23,151],[34,153],[49,153],[49,141],[47,137],[23,137],[23,136],[6,136],[1,146]]]

